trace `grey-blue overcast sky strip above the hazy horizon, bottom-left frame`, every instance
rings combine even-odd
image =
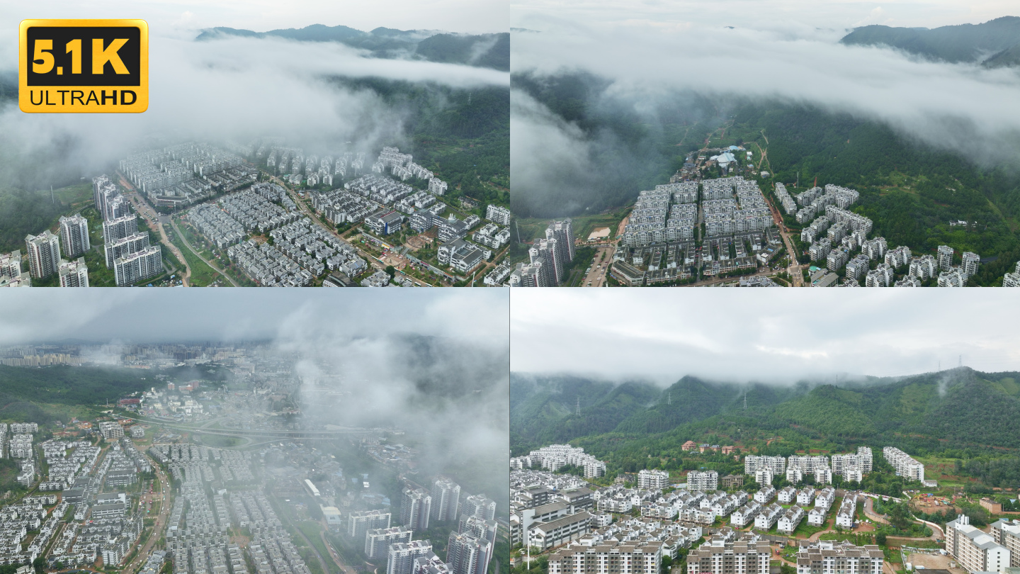
[[[0,345],[417,333],[506,347],[501,289],[8,289]]]

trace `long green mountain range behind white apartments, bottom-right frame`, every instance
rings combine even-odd
[[[511,449],[520,453],[570,440],[594,452],[655,452],[710,436],[758,448],[776,436],[782,439],[777,445],[797,448],[806,441],[844,446],[880,441],[911,450],[1020,448],[1018,381],[1018,373],[960,368],[896,379],[786,386],[684,377],[663,391],[641,383],[614,387],[578,377],[513,375]],[[580,417],[574,415],[572,402],[578,396]],[[641,404],[638,398],[652,400]],[[622,419],[612,417],[626,411]]]

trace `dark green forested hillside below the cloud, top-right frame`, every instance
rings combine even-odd
[[[644,107],[653,111],[643,115],[613,99],[610,83],[592,75],[522,74],[511,82],[580,130],[595,171],[578,184],[585,204],[577,204],[576,189],[567,185],[515,190],[514,211],[522,218],[626,205],[641,190],[666,183],[686,154],[708,141],[709,147],[744,145],[756,158],[767,149],[764,189],[782,182],[798,193],[816,180],[857,189],[854,210],[870,218],[872,235],[890,246],[923,254],[945,244],[978,253],[976,285],[1001,285],[1020,260],[1020,172],[979,165],[967,150],[937,149],[888,125],[804,103],[677,93],[649,102]],[[790,187],[798,181],[800,188]]]

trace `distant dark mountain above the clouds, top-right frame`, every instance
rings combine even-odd
[[[1003,16],[984,23],[964,23],[941,28],[890,28],[865,26],[855,29],[840,41],[847,45],[889,46],[948,62],[983,62],[988,65],[1017,65],[1016,50],[1020,49],[1020,17]],[[990,60],[1004,52],[1013,57]],[[989,55],[991,57],[989,57]]]

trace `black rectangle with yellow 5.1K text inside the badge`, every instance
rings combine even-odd
[[[135,27],[32,27],[29,86],[139,86],[141,31]]]

